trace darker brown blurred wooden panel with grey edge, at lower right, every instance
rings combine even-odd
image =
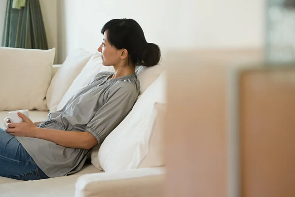
[[[294,197],[295,65],[266,65],[232,74],[232,132],[237,132],[231,139],[232,153],[237,150],[231,155],[232,180],[238,183],[232,196]]]

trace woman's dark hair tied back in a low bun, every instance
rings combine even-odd
[[[161,52],[158,45],[148,43],[143,29],[133,19],[113,19],[101,29],[108,31],[108,41],[117,49],[127,49],[129,61],[133,66],[155,66],[159,63]]]

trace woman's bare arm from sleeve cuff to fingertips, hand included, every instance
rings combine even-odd
[[[97,139],[88,131],[59,131],[39,128],[24,114],[18,113],[23,123],[9,123],[6,132],[14,136],[45,139],[69,148],[90,149],[97,144]]]

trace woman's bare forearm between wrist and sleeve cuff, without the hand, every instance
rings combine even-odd
[[[59,131],[35,128],[35,138],[45,139],[69,148],[90,149],[97,144],[96,138],[88,131]]]

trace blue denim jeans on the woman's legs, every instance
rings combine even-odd
[[[1,128],[0,176],[24,181],[49,178],[35,164],[22,144]]]

